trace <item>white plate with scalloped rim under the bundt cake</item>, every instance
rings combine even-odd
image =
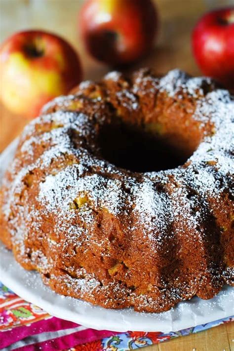
[[[0,156],[1,174],[12,160],[17,140]],[[118,332],[170,332],[205,324],[234,314],[234,289],[225,286],[211,300],[194,297],[180,302],[175,308],[162,313],[139,313],[132,309],[107,310],[89,303],[64,297],[43,285],[39,273],[24,270],[0,241],[0,281],[23,299],[34,303],[48,313],[94,329]]]

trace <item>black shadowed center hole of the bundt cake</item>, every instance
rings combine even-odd
[[[133,172],[173,169],[183,165],[193,154],[179,151],[165,139],[158,133],[138,130],[124,123],[111,123],[100,131],[99,145],[103,158]]]

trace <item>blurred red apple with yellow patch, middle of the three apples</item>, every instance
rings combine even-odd
[[[146,54],[154,45],[157,24],[151,0],[86,0],[78,18],[87,51],[111,65]]]

